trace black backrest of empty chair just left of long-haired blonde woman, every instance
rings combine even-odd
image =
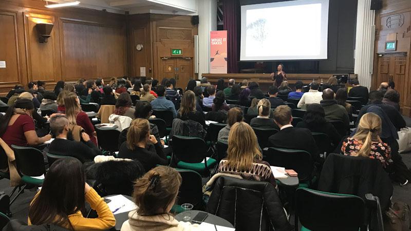
[[[206,158],[207,145],[197,137],[173,136],[173,155],[178,161],[200,163]]]

